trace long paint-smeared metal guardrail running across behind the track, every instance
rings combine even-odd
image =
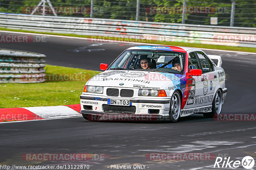
[[[6,13],[0,13],[0,26],[39,32],[97,36],[151,36],[153,40],[256,47],[256,28],[245,27]]]

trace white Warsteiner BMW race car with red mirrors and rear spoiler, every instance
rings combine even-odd
[[[213,117],[227,95],[221,64],[220,56],[191,47],[130,47],[110,66],[101,63],[105,71],[86,82],[81,113],[87,120],[143,116],[177,122],[195,113]]]

